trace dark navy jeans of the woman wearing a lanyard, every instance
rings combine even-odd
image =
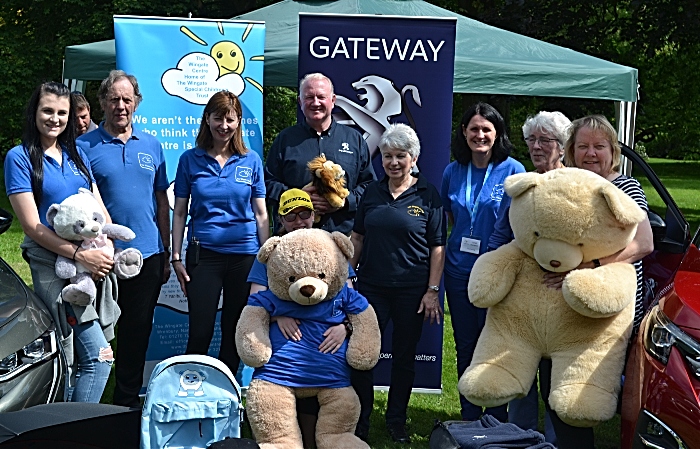
[[[447,293],[447,304],[450,307],[450,317],[452,318],[452,331],[455,337],[455,348],[457,349],[457,378],[462,377],[464,371],[474,357],[476,342],[479,340],[481,330],[486,324],[486,309],[481,309],[469,302],[467,285],[469,279],[457,279],[445,273],[445,291]],[[499,407],[489,407],[483,410],[480,405],[472,404],[459,395],[462,406],[462,419],[475,421],[482,414],[489,414],[501,422],[508,419],[507,405]]]

